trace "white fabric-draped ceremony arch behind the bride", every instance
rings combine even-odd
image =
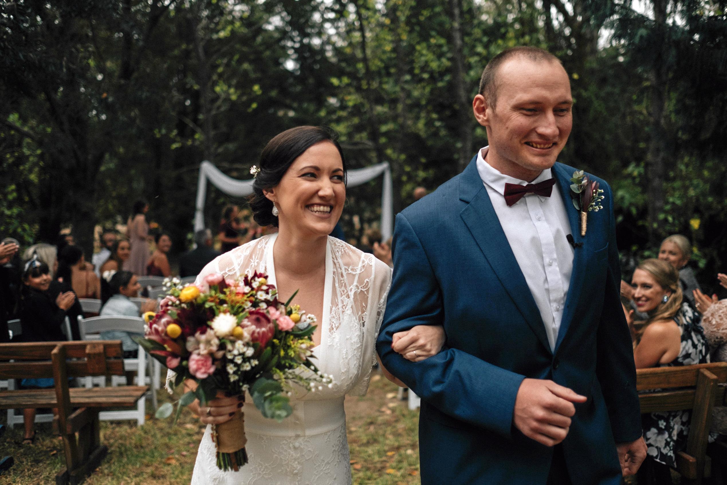
[[[363,169],[348,171],[347,187],[356,187],[368,182],[379,175],[384,175],[384,183],[381,191],[381,235],[383,240],[389,239],[394,232],[394,207],[393,188],[391,181],[391,169],[388,162],[371,165]],[[204,201],[207,193],[207,182],[212,183],[220,191],[233,197],[245,197],[252,193],[254,179],[237,180],[228,177],[209,161],[203,161],[199,165],[199,181],[197,183],[197,203],[194,213],[194,231],[204,229]]]

